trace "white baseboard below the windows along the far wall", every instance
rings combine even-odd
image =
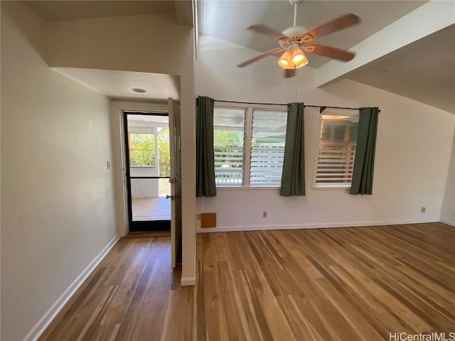
[[[314,224],[281,224],[281,225],[245,225],[229,227],[213,227],[207,229],[197,228],[196,233],[206,232],[235,232],[235,231],[262,231],[267,229],[327,229],[331,227],[361,227],[399,224],[419,224],[424,222],[437,222],[437,219],[424,220],[395,220],[379,222],[320,222]]]

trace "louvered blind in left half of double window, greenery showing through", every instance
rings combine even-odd
[[[215,183],[241,186],[244,174],[245,109],[216,107],[213,112]]]

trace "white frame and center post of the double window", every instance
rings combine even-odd
[[[217,190],[278,190],[279,185],[250,185],[251,175],[251,142],[252,142],[252,124],[253,113],[255,110],[264,110],[270,112],[286,112],[287,104],[253,104],[253,103],[226,103],[215,101],[214,108],[225,109],[244,109],[245,110],[245,130],[243,140],[243,182],[241,185],[220,185],[216,184]],[[247,148],[248,146],[248,148]]]

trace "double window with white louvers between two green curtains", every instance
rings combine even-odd
[[[215,106],[213,144],[216,185],[279,186],[286,122],[286,109]]]

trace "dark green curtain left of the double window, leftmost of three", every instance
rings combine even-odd
[[[213,99],[196,99],[196,197],[214,197]]]

